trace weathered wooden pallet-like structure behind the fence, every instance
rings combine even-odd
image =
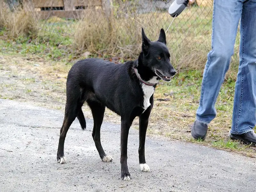
[[[85,9],[103,9],[109,17],[112,0],[27,0],[29,11],[35,10],[39,19],[52,16],[60,18],[78,19]]]

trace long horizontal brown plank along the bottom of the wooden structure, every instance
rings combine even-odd
[[[39,19],[49,19],[52,16],[60,18],[70,18],[70,19],[79,19],[84,10],[75,10],[75,11],[65,11],[65,10],[56,10],[56,11],[39,11],[37,12]]]

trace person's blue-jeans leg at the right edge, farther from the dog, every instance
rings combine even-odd
[[[256,124],[255,10],[256,0],[248,0],[244,2],[240,23],[240,64],[236,79],[231,134],[241,135],[243,133],[251,132]],[[251,136],[253,136],[253,134]],[[247,140],[245,139],[245,141]],[[250,141],[253,142],[253,140]],[[247,143],[251,143],[250,141]],[[254,138],[254,143],[255,142],[256,137]]]

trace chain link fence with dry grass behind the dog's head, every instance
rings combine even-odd
[[[173,19],[168,14],[172,1],[23,0],[23,7],[36,13],[40,31],[69,36],[78,51],[134,59],[140,52],[141,27],[150,40],[156,40]],[[190,3],[166,32],[177,68],[204,66],[211,49],[212,4],[213,0]],[[239,38],[235,53],[238,47]]]

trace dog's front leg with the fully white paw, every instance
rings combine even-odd
[[[139,162],[140,162],[140,170],[144,172],[149,172],[149,166],[145,160],[145,139],[146,132],[148,128],[148,117],[151,112],[151,107],[149,107],[143,114],[140,115],[140,123],[139,123]]]

